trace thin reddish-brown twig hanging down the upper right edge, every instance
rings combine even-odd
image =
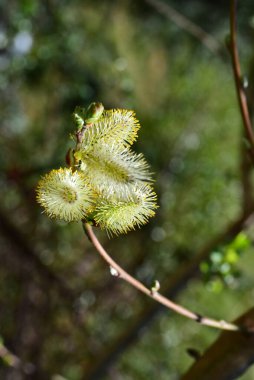
[[[232,59],[232,66],[234,71],[235,86],[241,110],[243,125],[245,133],[249,142],[249,154],[252,162],[254,163],[254,131],[251,124],[250,114],[248,110],[247,98],[243,85],[243,77],[241,73],[241,66],[239,61],[239,54],[237,49],[237,36],[236,36],[236,6],[237,0],[231,0],[230,5],[230,54]]]

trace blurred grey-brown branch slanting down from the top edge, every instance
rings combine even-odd
[[[172,8],[168,3],[164,3],[161,0],[145,0],[163,16],[166,16],[169,20],[173,21],[181,29],[184,29],[189,34],[197,38],[207,49],[213,54],[219,54],[223,51],[222,45],[213,36],[208,34],[200,26],[194,24],[187,17]]]

